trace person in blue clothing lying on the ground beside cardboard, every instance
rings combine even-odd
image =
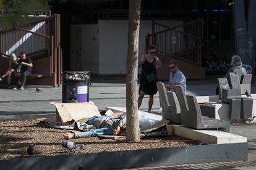
[[[101,135],[117,135],[122,127],[124,127],[124,119],[121,116],[93,116],[86,122],[93,125],[96,129],[86,132],[67,132],[63,135],[64,139],[95,137]]]

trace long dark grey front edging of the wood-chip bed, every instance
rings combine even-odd
[[[247,143],[20,158],[1,160],[0,167],[5,170],[79,169],[82,162],[83,169],[121,169],[238,160],[247,160]]]

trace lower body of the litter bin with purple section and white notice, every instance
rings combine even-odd
[[[67,85],[66,99],[67,103],[88,102],[88,85]]]

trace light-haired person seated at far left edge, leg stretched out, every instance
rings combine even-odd
[[[6,71],[6,73],[2,76],[0,76],[0,81],[4,79],[6,76],[8,76],[8,88],[11,87],[11,80],[12,80],[12,73],[14,73],[19,68],[19,57],[16,57],[14,53],[10,55],[10,61],[9,61],[9,69]]]

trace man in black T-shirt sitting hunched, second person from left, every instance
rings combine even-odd
[[[31,59],[26,56],[25,52],[20,53],[19,65],[21,65],[21,68],[17,69],[17,73],[20,73],[21,75],[20,90],[23,91],[27,76],[32,73],[32,67],[33,67]]]

